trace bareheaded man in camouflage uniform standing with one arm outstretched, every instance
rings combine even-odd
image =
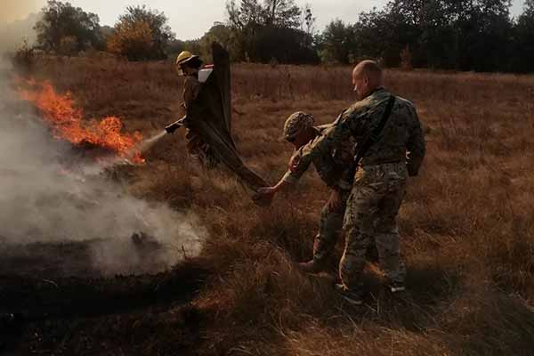
[[[357,142],[358,150],[382,121],[392,95],[384,89],[382,69],[375,61],[362,61],[352,72],[352,83],[359,101],[307,146],[294,167],[296,171],[351,138]],[[345,248],[339,267],[342,283],[336,287],[350,303],[362,303],[361,274],[372,241],[376,242],[380,265],[392,292],[404,290],[397,214],[407,179],[417,175],[424,157],[425,138],[417,111],[410,101],[396,97],[384,129],[360,161],[344,214]]]

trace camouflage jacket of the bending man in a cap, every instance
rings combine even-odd
[[[287,170],[283,180],[295,183],[306,172],[310,164],[313,163],[315,170],[328,187],[338,189],[340,186],[345,186],[346,184],[339,184],[339,181],[342,177],[346,176],[346,171],[349,169],[354,158],[354,142],[349,140],[340,145],[339,148],[329,151],[328,154],[313,155],[311,159],[303,161],[303,157],[310,157],[310,150],[314,147],[315,142],[322,140],[323,135],[331,130],[332,124],[314,126],[313,128],[317,132],[315,139],[299,150],[296,150],[294,154],[294,157],[297,156],[296,160],[303,163],[299,163],[293,172]]]

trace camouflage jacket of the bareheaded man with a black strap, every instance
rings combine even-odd
[[[341,147],[350,139],[358,144],[368,137],[369,132],[382,120],[386,103],[390,97],[384,88],[377,89],[362,101],[357,101],[349,109],[337,117],[336,121],[314,141],[304,146],[301,159],[296,167],[297,172],[305,170],[310,162],[328,156],[330,152]],[[360,165],[373,166],[385,163],[405,162],[409,175],[417,175],[425,157],[425,136],[417,117],[414,105],[397,97],[391,116],[378,141],[373,144]],[[348,170],[344,171],[345,173]],[[351,182],[352,177],[341,177],[342,188],[350,188],[344,184]]]

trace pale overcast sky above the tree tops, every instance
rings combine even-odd
[[[381,8],[387,0],[295,0],[296,4],[312,5],[317,17],[317,28],[322,30],[328,21],[341,19],[354,22],[361,11],[373,7]],[[0,0],[3,5],[0,23],[24,19],[30,12],[38,12],[45,0]],[[86,12],[99,15],[101,25],[113,26],[117,16],[125,7],[146,4],[150,8],[166,13],[169,24],[180,39],[193,39],[202,36],[215,21],[225,20],[226,0],[69,0],[69,3],[83,8]],[[512,0],[512,12],[522,12],[524,0]],[[1,25],[0,25],[1,26]]]

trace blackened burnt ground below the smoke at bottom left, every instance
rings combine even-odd
[[[172,271],[108,279],[45,278],[43,272],[48,271],[0,275],[0,313],[14,317],[0,326],[0,351],[69,355],[115,349],[152,354],[150,338],[162,337],[159,330],[164,328],[172,329],[168,335],[177,349],[159,354],[197,343],[205,318],[190,301],[212,272],[206,261],[188,259]]]

